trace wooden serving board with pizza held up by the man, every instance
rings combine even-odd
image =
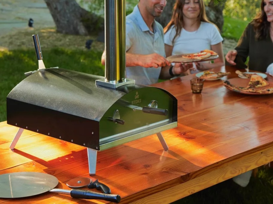
[[[169,60],[170,62],[191,63],[191,62],[210,61],[218,57],[219,55],[213,50],[202,50],[201,52],[198,52],[198,53],[172,55],[167,57],[167,60]]]

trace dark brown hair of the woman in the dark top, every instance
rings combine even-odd
[[[264,6],[264,0],[262,0],[260,13],[251,21],[256,40],[263,40],[269,35],[270,23],[267,21]]]

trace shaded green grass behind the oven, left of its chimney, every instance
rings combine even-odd
[[[44,49],[46,67],[72,69],[79,72],[104,76],[101,65],[102,52],[68,50],[61,48]],[[37,70],[38,62],[33,49],[0,52],[0,121],[6,120],[6,97],[25,78],[24,73]]]

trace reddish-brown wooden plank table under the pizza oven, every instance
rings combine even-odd
[[[214,71],[235,69],[222,67]],[[273,95],[242,95],[205,81],[192,94],[188,75],[155,84],[178,99],[178,127],[163,132],[165,152],[156,135],[98,152],[95,178],[107,184],[121,203],[170,203],[273,160]],[[273,81],[272,77],[268,80]],[[84,147],[25,130],[14,151],[18,128],[0,123],[0,174],[36,171],[66,181],[89,177]],[[96,191],[96,190],[95,190]],[[46,192],[0,203],[105,203]]]

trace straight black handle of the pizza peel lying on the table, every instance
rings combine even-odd
[[[81,189],[72,189],[70,195],[73,198],[82,198],[82,199],[96,199],[96,200],[106,200],[114,203],[120,202],[120,196],[115,194],[105,194],[97,193],[94,191],[87,191]]]

